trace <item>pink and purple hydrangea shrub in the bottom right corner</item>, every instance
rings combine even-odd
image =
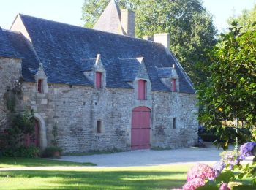
[[[240,153],[234,151],[221,153],[222,159],[213,167],[196,164],[187,172],[187,183],[179,190],[230,190],[256,189],[256,161],[240,164],[248,156],[256,158],[256,142],[241,145]],[[236,170],[236,172],[234,172]],[[244,180],[244,176],[246,180]]]

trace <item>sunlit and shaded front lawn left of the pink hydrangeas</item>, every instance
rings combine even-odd
[[[172,189],[185,183],[191,166],[0,171],[0,184],[1,189]]]

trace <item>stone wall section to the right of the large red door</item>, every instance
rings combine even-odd
[[[181,148],[197,143],[195,94],[153,93],[151,147]],[[176,129],[173,129],[176,118]]]

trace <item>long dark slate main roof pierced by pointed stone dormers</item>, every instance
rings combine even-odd
[[[135,64],[135,58],[143,57],[153,91],[170,91],[161,82],[157,68],[175,64],[180,91],[195,93],[176,58],[167,55],[161,44],[27,15],[20,15],[20,18],[29,33],[31,45],[22,34],[10,31],[5,34],[12,47],[23,56],[25,81],[34,82],[33,69],[37,69],[41,62],[48,83],[92,86],[83,72],[89,71],[97,54],[101,54],[109,88],[132,88],[127,84],[127,80],[134,77],[135,67],[132,64]],[[124,59],[133,61],[126,69],[124,64],[129,63],[124,63]],[[124,75],[124,70],[127,75]]]

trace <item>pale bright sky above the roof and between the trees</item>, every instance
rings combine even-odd
[[[83,26],[81,7],[84,0],[2,0],[0,26],[10,28],[15,15],[23,13],[39,18],[56,20]],[[219,31],[227,28],[227,18],[241,14],[243,9],[252,9],[256,0],[204,0],[204,6],[213,15]]]

